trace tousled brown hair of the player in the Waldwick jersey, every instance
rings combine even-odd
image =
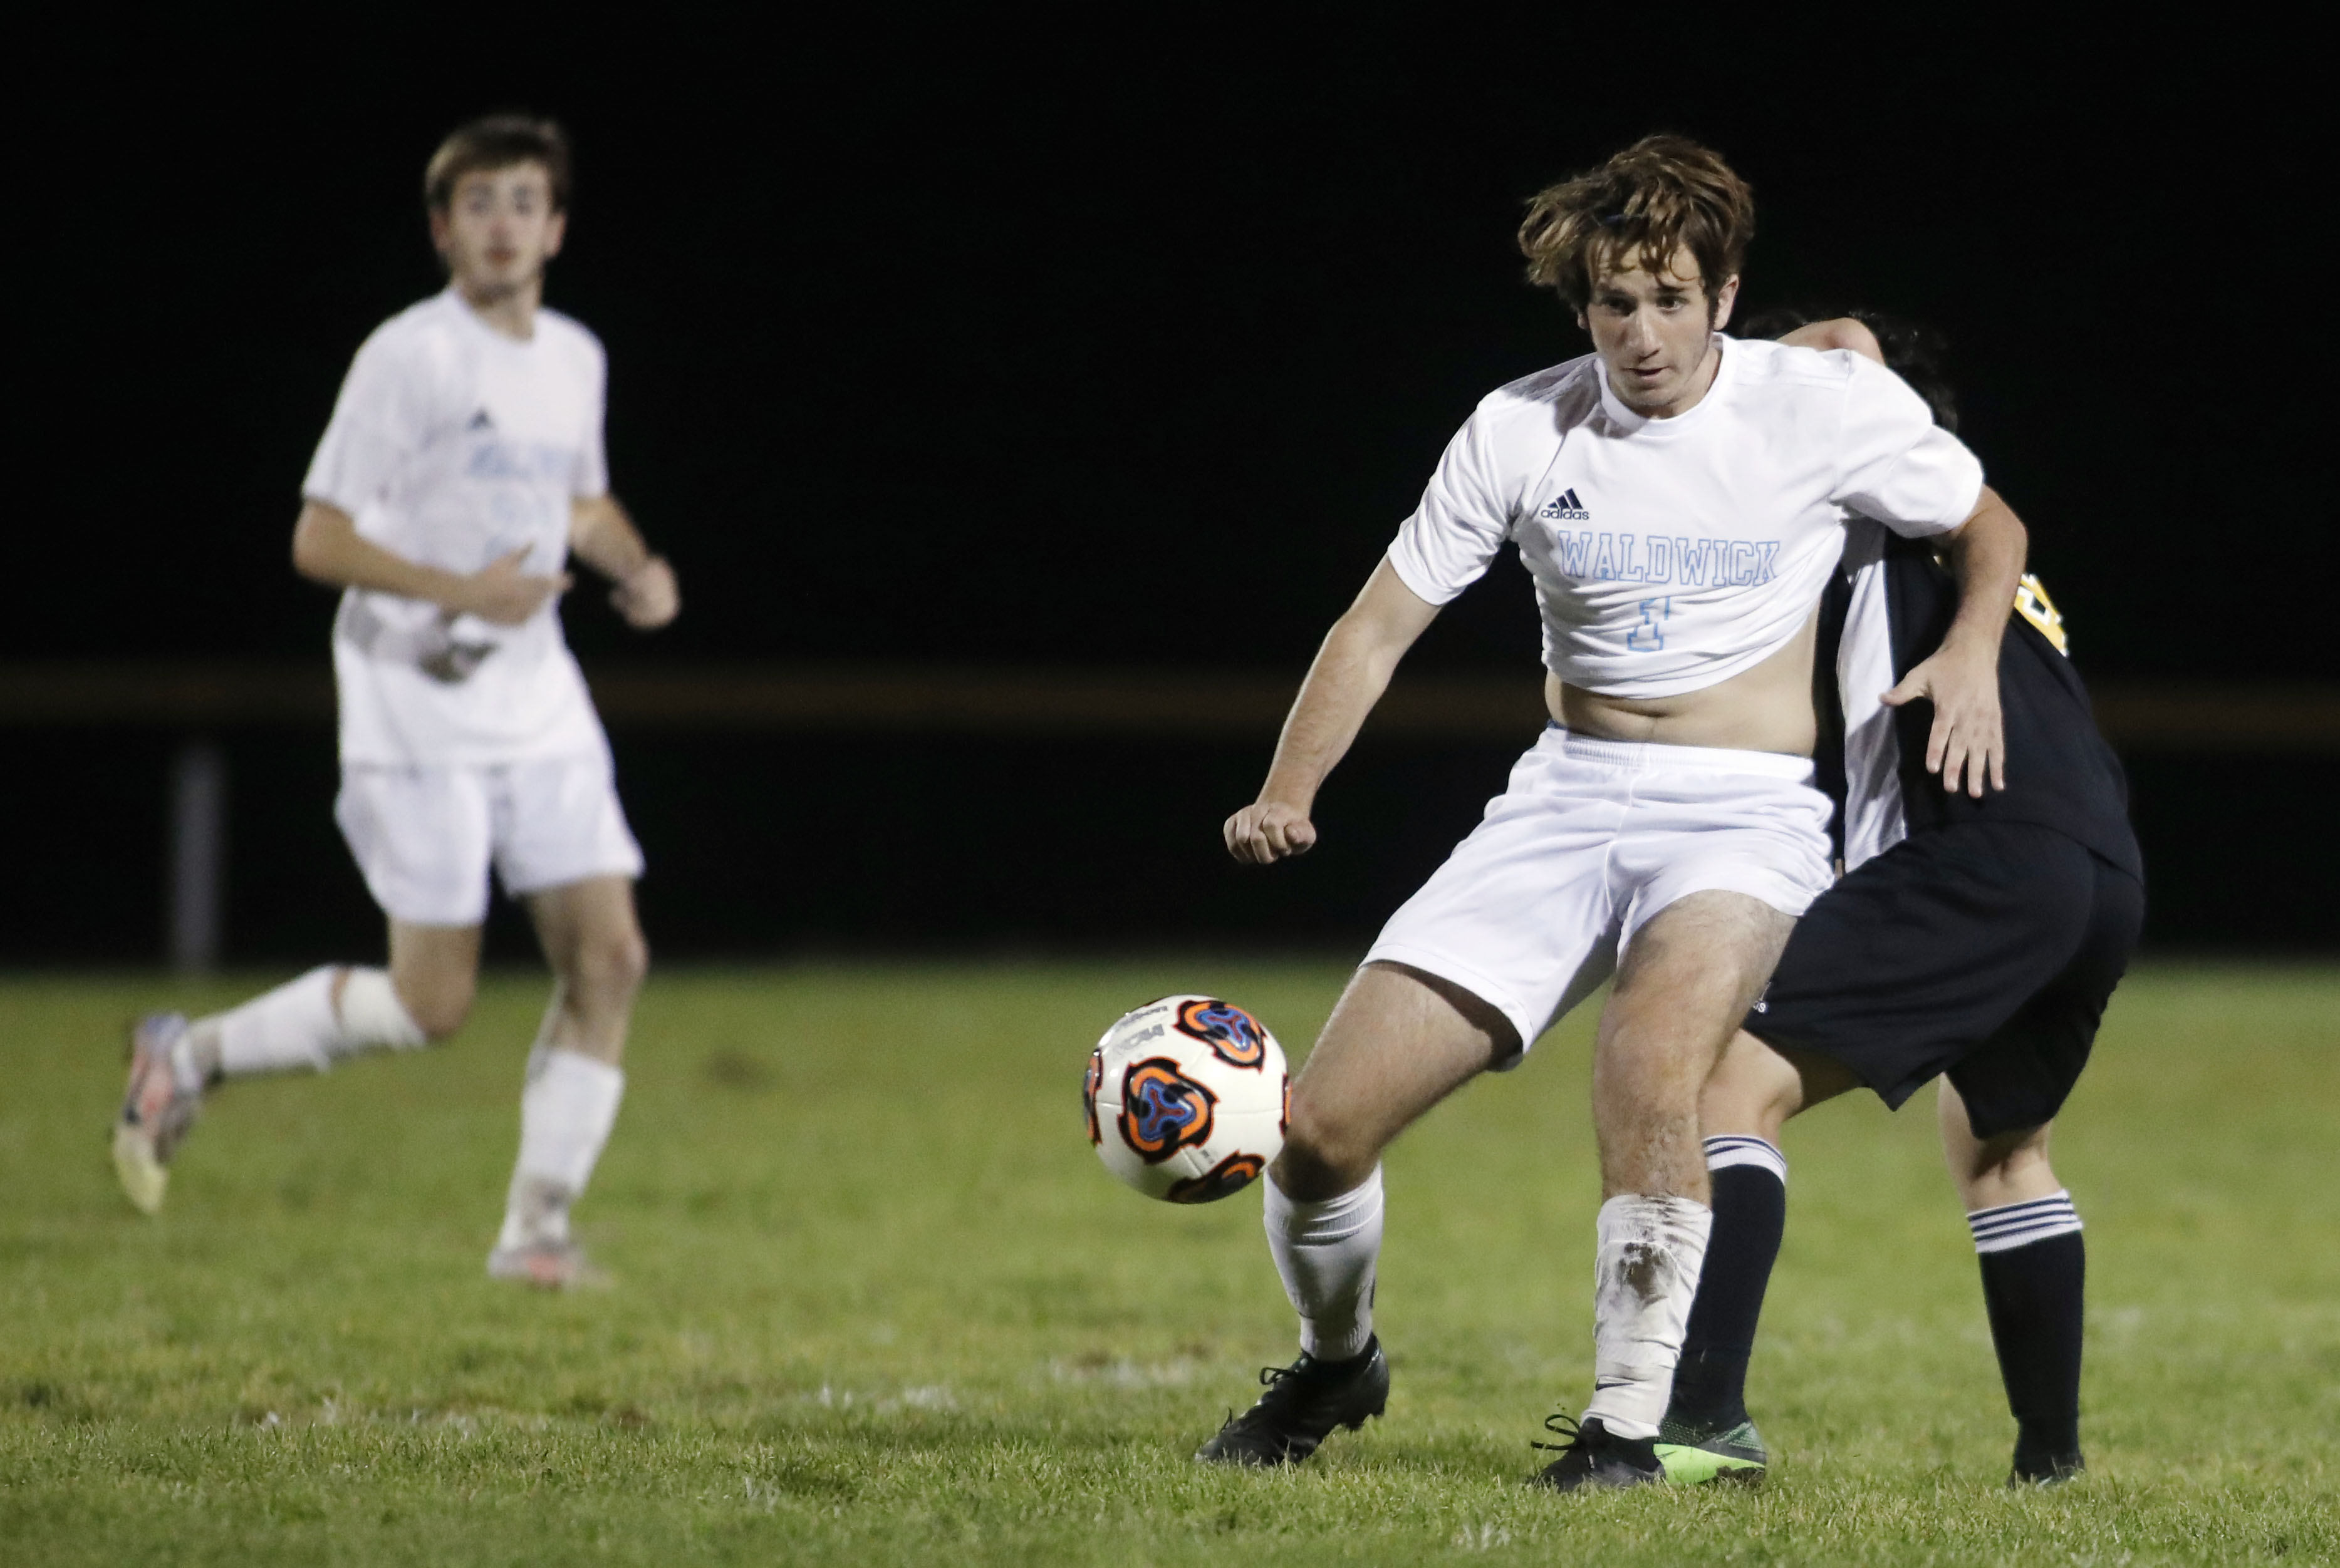
[[[1689,246],[1713,309],[1753,236],[1755,192],[1720,154],[1682,136],[1643,136],[1601,169],[1540,190],[1519,225],[1519,250],[1530,283],[1582,311],[1594,269],[1629,246],[1652,274]]]

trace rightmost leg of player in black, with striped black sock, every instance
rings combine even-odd
[[[2015,1416],[2008,1486],[2080,1474],[2080,1320],[2087,1247],[2080,1212],[2047,1165],[2047,1128],[1975,1137],[1949,1079],[1940,1091],[1942,1156],[1959,1182],[1982,1264],[1998,1376]]]

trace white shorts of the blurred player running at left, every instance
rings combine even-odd
[[[487,920],[489,864],[512,896],[641,875],[608,756],[494,768],[344,763],[332,814],[374,903],[410,924]]]

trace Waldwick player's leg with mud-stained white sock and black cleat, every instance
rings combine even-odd
[[[1792,927],[1760,899],[1699,892],[1668,903],[1626,945],[1594,1046],[1603,1187],[1594,1397],[1537,1486],[1666,1477],[1657,1435],[1713,1229],[1699,1091]]]

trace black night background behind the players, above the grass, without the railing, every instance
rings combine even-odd
[[[285,557],[302,468],[349,353],[440,283],[431,147],[524,105],[580,161],[548,300],[608,344],[615,484],[686,594],[655,639],[573,594],[587,669],[1296,679],[1472,403],[1584,349],[1519,281],[1521,201],[1675,129],[1757,190],[1746,309],[1860,302],[1952,339],[1963,431],[2092,679],[2331,681],[2324,94],[2277,37],[2043,14],[866,12],[648,35],[480,12],[58,37],[19,59],[12,110],[40,262],[12,353],[19,571],[49,566],[19,578],[0,660],[323,662],[332,599]],[[1533,679],[1526,578],[1498,566],[1413,660]],[[222,740],[229,955],[372,950],[330,735]],[[178,737],[0,744],[23,835],[0,962],[145,962]],[[615,744],[669,955],[1350,945],[1516,751],[1367,742],[1324,847],[1245,875],[1217,821],[1257,786],[1254,737]],[[2132,761],[2157,943],[2340,941],[2324,770]]]

